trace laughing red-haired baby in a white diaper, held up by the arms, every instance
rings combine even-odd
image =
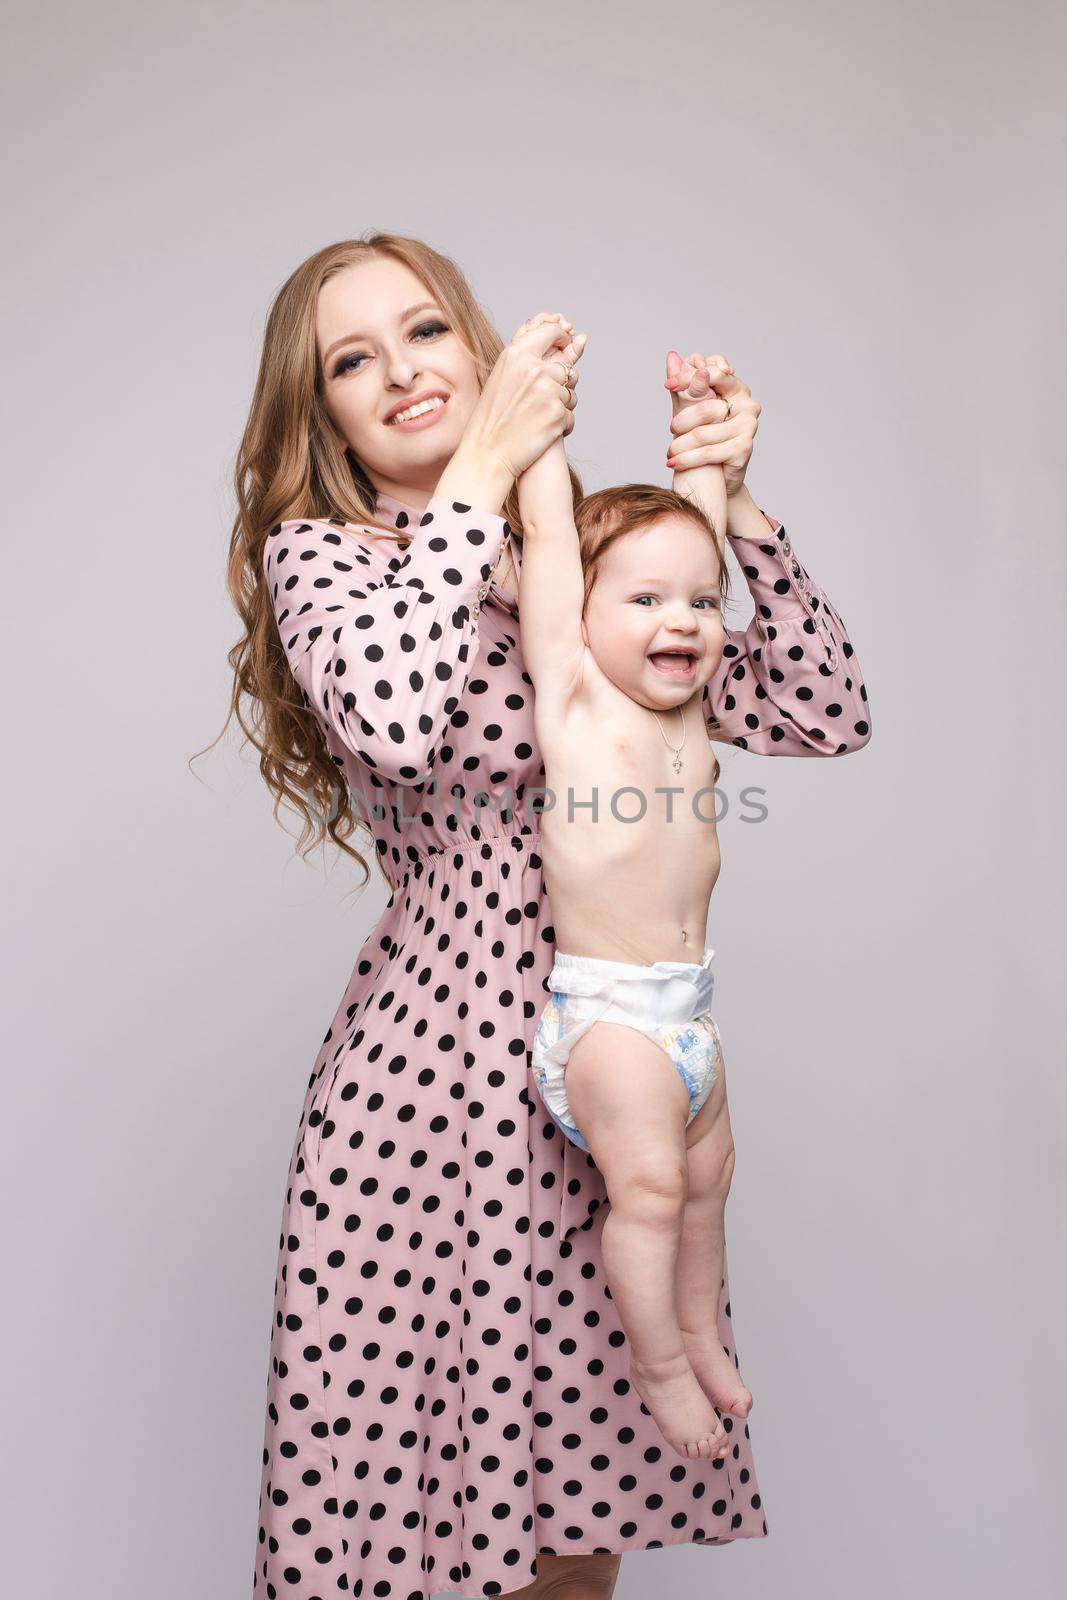
[[[582,350],[579,336],[561,360]],[[677,378],[675,410],[709,392],[705,365]],[[729,1448],[720,1413],[745,1418],[752,1395],[717,1317],[733,1144],[705,944],[720,858],[702,691],[725,643],[721,467],[685,482],[685,498],[641,483],[590,496],[579,541],[552,445],[518,480],[518,610],[557,939],[534,1080],[605,1179],[603,1266],[633,1387],[678,1454],[712,1459]]]

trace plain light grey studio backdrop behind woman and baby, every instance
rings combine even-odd
[[[251,1587],[290,1146],[386,894],[301,864],[234,728],[187,758],[269,298],[387,227],[506,338],[589,331],[587,488],[667,482],[664,350],[725,352],[870,693],[861,754],[723,778],[769,808],[723,822],[710,938],[771,1536],[629,1554],[617,1594],[1053,1595],[1054,11],[6,8],[6,1592]]]

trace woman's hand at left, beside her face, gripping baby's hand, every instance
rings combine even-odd
[[[565,368],[581,352],[571,334],[571,323],[558,312],[539,312],[517,328],[470,416],[464,443],[496,459],[512,478],[574,427],[577,378],[568,387]]]

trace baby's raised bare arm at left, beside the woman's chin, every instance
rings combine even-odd
[[[585,579],[561,438],[518,478],[518,622],[526,670],[537,694],[557,690],[568,698],[581,682]]]

